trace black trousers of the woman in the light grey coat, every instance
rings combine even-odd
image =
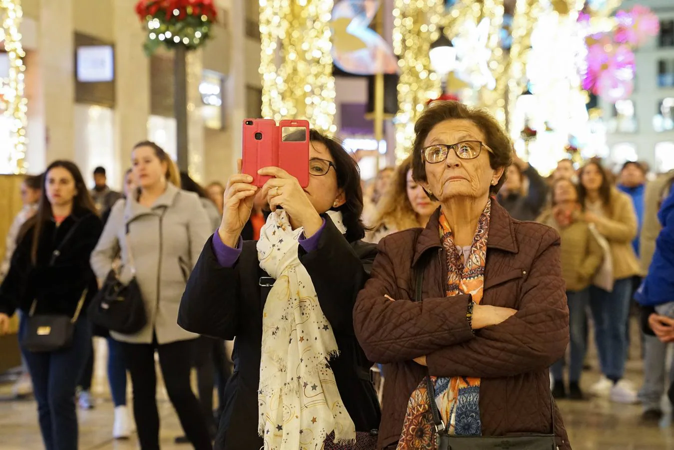
[[[196,339],[159,345],[122,343],[124,360],[133,384],[133,416],[142,450],[159,450],[159,412],[154,351],[159,354],[168,399],[173,403],[185,436],[195,450],[212,450],[206,418],[189,385],[191,356]]]

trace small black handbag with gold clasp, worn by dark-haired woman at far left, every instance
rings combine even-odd
[[[49,266],[53,266],[54,262],[61,255],[61,248],[72,237],[75,229],[77,229],[79,222],[76,222],[68,233],[63,237],[63,241],[56,248],[49,260]],[[28,319],[26,320],[26,334],[24,335],[21,345],[28,351],[33,353],[41,353],[45,351],[57,351],[68,348],[73,343],[73,334],[75,333],[75,322],[80,317],[82,306],[86,299],[88,289],[84,289],[78,306],[75,309],[75,314],[72,317],[65,314],[35,314],[37,307],[37,299],[33,300],[28,312]]]

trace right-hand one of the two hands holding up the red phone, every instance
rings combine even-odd
[[[304,227],[306,237],[311,237],[319,230],[323,219],[299,186],[297,178],[279,167],[263,167],[257,173],[274,177],[262,187],[262,195],[267,198],[272,211],[278,206],[283,208],[297,225]]]

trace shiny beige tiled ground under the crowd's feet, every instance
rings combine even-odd
[[[628,363],[627,377],[638,387],[641,378],[638,350],[632,351],[632,355],[633,359]],[[79,412],[80,449],[136,449],[135,439],[115,442],[111,438],[113,405],[109,400],[106,379],[102,372],[104,351],[99,351],[96,359],[98,362],[95,394],[98,403],[94,410]],[[592,356],[589,360],[596,366],[596,360]],[[583,385],[590,385],[598,376],[596,371],[586,372]],[[9,393],[9,387],[0,385],[0,396],[7,393]],[[181,428],[171,404],[161,391],[159,398],[162,417],[162,449],[191,448],[189,445],[173,443],[173,439],[182,434]],[[644,426],[640,423],[641,409],[637,405],[615,405],[594,399],[580,403],[561,401],[559,406],[570,432],[570,441],[574,450],[674,450],[674,427],[670,425],[669,417],[665,418],[660,426]],[[39,450],[42,448],[34,402],[31,400],[0,401],[0,450]]]

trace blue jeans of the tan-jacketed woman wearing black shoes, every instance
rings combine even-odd
[[[590,291],[584,289],[578,292],[566,291],[566,300],[569,305],[569,383],[578,383],[583,371],[585,351],[587,347],[587,313],[586,308]],[[555,381],[562,381],[564,358],[555,362],[550,368]]]

